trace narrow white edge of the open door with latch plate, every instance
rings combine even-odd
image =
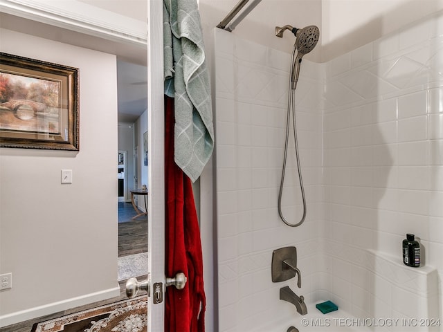
[[[163,0],[148,0],[147,6],[147,132],[148,132],[148,252],[151,296],[147,331],[163,332],[165,306],[158,300],[165,292],[165,172],[163,106]],[[172,277],[172,276],[168,276]]]

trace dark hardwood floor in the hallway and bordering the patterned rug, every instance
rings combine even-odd
[[[147,252],[147,216],[138,217],[135,220],[131,220],[136,215],[131,203],[118,203],[118,257],[127,255],[134,255],[141,252]],[[138,280],[146,279],[147,276],[137,277]],[[96,306],[102,306],[105,304],[121,301],[126,299],[125,294],[126,280],[119,282],[120,284],[120,296],[105,301],[91,303],[86,306],[80,306],[78,308],[71,308],[66,311],[54,313],[44,317],[38,317],[34,320],[28,320],[18,324],[13,324],[0,328],[0,332],[30,332],[33,324],[43,322],[44,320],[51,320],[63,315],[69,315],[78,311],[87,310],[89,308],[95,308]]]

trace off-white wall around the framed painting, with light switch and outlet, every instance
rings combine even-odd
[[[116,57],[0,30],[1,51],[80,68],[80,151],[0,150],[1,325],[119,293]],[[73,183],[60,184],[60,170]],[[16,315],[17,314],[17,315]]]

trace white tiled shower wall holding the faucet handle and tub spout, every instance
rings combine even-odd
[[[278,217],[284,147],[289,55],[215,29],[217,237],[220,331],[260,331],[296,314],[279,299],[289,285],[307,301],[323,279],[317,238],[323,217],[321,66],[304,62],[296,95],[298,137],[307,196],[306,223],[289,228]],[[301,216],[293,140],[283,211]],[[271,282],[272,251],[298,249],[302,288],[296,279]]]

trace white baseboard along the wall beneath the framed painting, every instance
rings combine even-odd
[[[93,302],[110,299],[111,297],[117,297],[120,295],[120,287],[109,288],[105,291],[82,295],[79,297],[73,297],[71,299],[65,299],[60,302],[53,302],[45,304],[44,306],[36,306],[35,308],[29,308],[15,313],[9,313],[8,315],[0,316],[0,328],[26,320],[32,320],[44,315],[51,315],[59,311],[64,311],[77,306],[84,306]]]

